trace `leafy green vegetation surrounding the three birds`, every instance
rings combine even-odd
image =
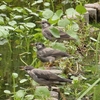
[[[65,68],[65,74],[73,79],[73,84],[60,87],[61,92],[64,94],[64,96],[61,96],[63,99],[64,97],[68,100],[86,98],[99,100],[98,98],[100,98],[98,95],[99,91],[97,90],[100,87],[100,33],[96,32],[97,28],[85,23],[84,13],[86,10],[82,4],[86,2],[86,0],[69,0],[68,2],[67,0],[0,1],[0,45],[8,45],[8,50],[11,54],[14,53],[14,49],[16,51],[18,49],[22,50],[17,54],[18,59],[22,62],[21,64],[32,65],[36,68],[44,67],[44,64],[36,57],[36,48],[30,46],[31,43],[35,42],[43,42],[45,45],[55,49],[67,51],[73,56],[72,59],[59,62],[60,69]],[[75,38],[76,41],[58,43],[46,40],[41,34],[41,26],[37,23],[37,21],[44,19],[51,23],[52,29],[50,31],[54,37],[59,37],[59,32],[55,28],[58,26]],[[94,29],[94,32],[91,32],[91,29]],[[29,59],[31,59],[30,62],[28,62]],[[0,61],[3,61],[2,53],[0,53]],[[17,60],[15,61],[17,62]],[[7,99],[46,99],[50,95],[46,88],[39,88],[35,91],[36,83],[28,76],[21,79],[20,74],[22,73],[13,73],[14,66],[11,68],[10,73],[12,73],[12,76],[9,79],[11,79],[13,87],[12,89],[4,89]],[[2,78],[5,78],[5,76],[6,72],[4,72],[4,77]],[[9,83],[8,80],[7,82]],[[28,88],[30,86],[29,83],[32,85],[31,88]]]

